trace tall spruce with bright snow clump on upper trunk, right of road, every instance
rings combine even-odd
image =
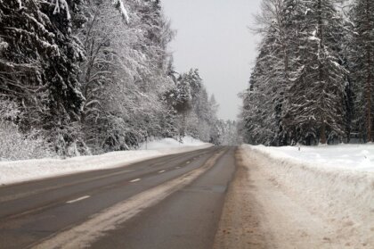
[[[326,144],[344,133],[346,71],[339,60],[342,20],[330,0],[299,1],[300,67],[291,72],[285,122],[297,142]]]

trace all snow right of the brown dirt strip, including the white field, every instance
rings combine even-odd
[[[374,145],[241,149],[278,248],[374,248]]]

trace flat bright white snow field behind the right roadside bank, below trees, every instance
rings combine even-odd
[[[320,146],[252,146],[279,160],[312,163],[315,167],[374,171],[374,144]]]

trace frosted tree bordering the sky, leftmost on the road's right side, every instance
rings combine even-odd
[[[295,15],[292,0],[264,0],[262,12],[256,16],[256,32],[262,35],[260,55],[244,93],[242,122],[253,143],[286,145],[288,134],[284,129],[284,104],[290,77],[291,47],[295,37]],[[250,95],[250,96],[249,96]],[[261,103],[257,106],[256,102]],[[247,117],[246,117],[247,116]],[[251,131],[249,131],[251,130]],[[245,136],[248,137],[248,136]],[[249,138],[249,137],[248,137]]]

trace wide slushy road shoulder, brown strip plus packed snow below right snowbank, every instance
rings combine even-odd
[[[215,236],[218,248],[365,248],[357,237],[340,237],[332,221],[311,212],[293,189],[281,184],[269,159],[240,148],[238,171],[229,189]],[[307,195],[307,193],[305,193]],[[366,247],[367,248],[367,247]]]

